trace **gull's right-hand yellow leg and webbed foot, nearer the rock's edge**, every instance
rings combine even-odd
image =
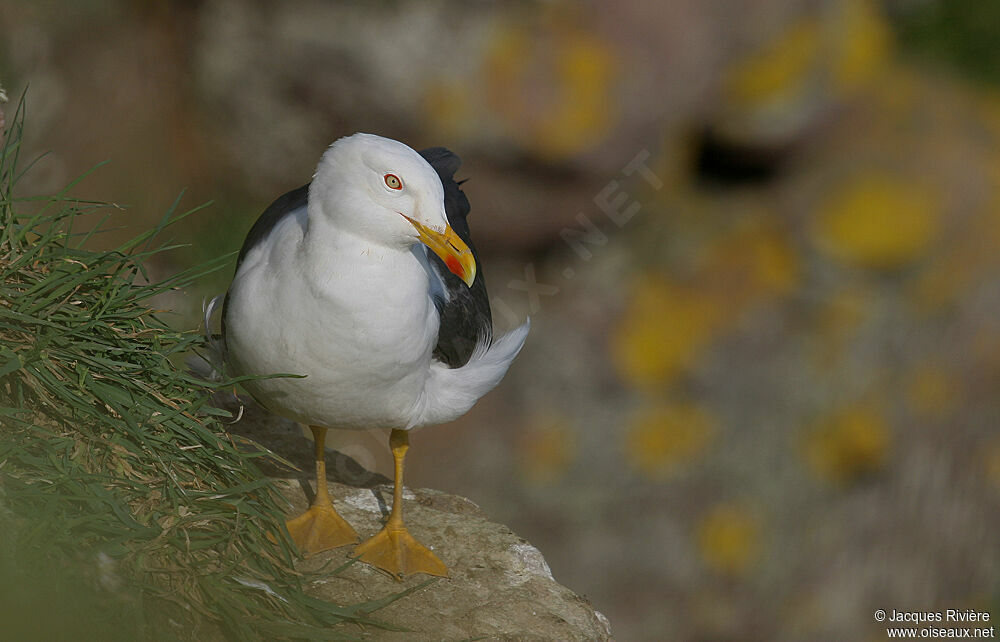
[[[392,512],[377,535],[360,544],[354,554],[361,561],[388,571],[399,579],[403,575],[427,573],[448,577],[448,567],[429,548],[413,539],[403,526],[403,459],[410,448],[409,433],[393,430],[389,437],[396,479],[392,489]]]

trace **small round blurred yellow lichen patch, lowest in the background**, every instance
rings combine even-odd
[[[741,504],[719,504],[701,518],[696,540],[706,564],[722,573],[740,575],[760,557],[760,520]]]

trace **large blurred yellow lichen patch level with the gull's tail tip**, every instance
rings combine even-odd
[[[697,287],[643,277],[612,337],[622,377],[639,386],[669,383],[711,342],[724,309]]]

